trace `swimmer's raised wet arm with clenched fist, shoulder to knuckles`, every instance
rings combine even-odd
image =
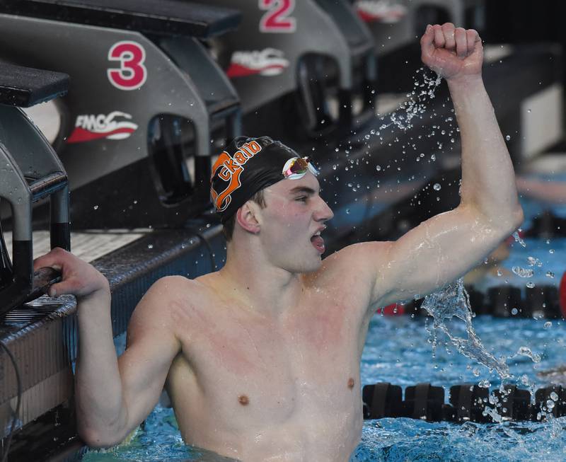
[[[461,202],[398,241],[369,243],[364,253],[374,257],[365,259],[376,275],[373,304],[423,296],[461,277],[523,220],[512,162],[483,86],[478,33],[451,23],[429,25],[421,47],[422,62],[446,79],[454,102],[462,144]]]

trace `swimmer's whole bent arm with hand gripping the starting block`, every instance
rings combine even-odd
[[[112,339],[108,281],[94,267],[62,249],[34,262],[62,271],[50,295],[77,300],[79,352],[75,402],[79,436],[89,446],[120,443],[156,405],[169,366],[180,350],[163,310],[167,279],[154,284],[136,307],[127,350],[117,358]],[[156,319],[158,322],[156,322]]]

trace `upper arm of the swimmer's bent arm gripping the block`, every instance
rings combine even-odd
[[[158,300],[151,291],[132,314],[127,347],[118,358],[129,430],[155,407],[171,362],[180,351],[180,342],[166,313],[166,297]]]

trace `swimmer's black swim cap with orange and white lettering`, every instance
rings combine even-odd
[[[210,198],[222,224],[253,195],[285,177],[293,149],[270,137],[237,137],[221,152],[212,167]]]

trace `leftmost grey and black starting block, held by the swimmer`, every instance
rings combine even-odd
[[[50,200],[51,248],[70,250],[69,187],[61,161],[20,108],[67,93],[69,76],[0,64],[0,198],[11,206],[12,259],[0,225],[0,314],[45,293],[59,274],[33,272],[32,204]]]

